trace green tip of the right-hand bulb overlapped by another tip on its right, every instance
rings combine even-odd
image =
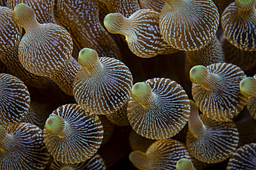
[[[193,83],[198,82],[202,77],[206,76],[208,73],[208,70],[205,66],[203,65],[196,65],[192,67],[190,70],[190,80]]]

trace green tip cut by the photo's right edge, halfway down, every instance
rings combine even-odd
[[[256,96],[256,78],[246,77],[240,82],[240,91],[244,96]]]

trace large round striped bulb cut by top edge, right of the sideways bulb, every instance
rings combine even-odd
[[[217,32],[219,12],[211,0],[164,0],[159,29],[163,39],[178,50],[204,47]]]

